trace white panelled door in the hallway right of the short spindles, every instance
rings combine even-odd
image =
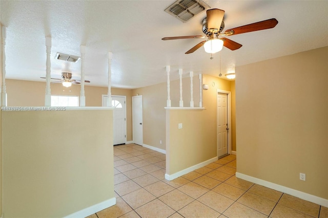
[[[228,154],[228,95],[217,94],[217,157]]]

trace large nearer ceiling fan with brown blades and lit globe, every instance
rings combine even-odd
[[[278,24],[278,20],[275,18],[259,21],[257,23],[244,25],[241,27],[232,28],[229,30],[221,31],[224,29],[224,11],[220,9],[209,9],[206,11],[207,17],[202,20],[202,31],[207,35],[208,39],[199,42],[196,46],[191,48],[185,54],[190,54],[204,46],[207,53],[216,53],[221,51],[222,47],[227,47],[230,50],[236,50],[242,47],[238,42],[235,42],[226,37],[219,38],[219,36],[230,36],[241,33],[248,33],[258,30],[265,30],[274,28]],[[172,39],[186,39],[186,38],[204,38],[206,36],[194,35],[194,36],[175,36],[175,37],[165,37],[162,40],[172,40]]]

